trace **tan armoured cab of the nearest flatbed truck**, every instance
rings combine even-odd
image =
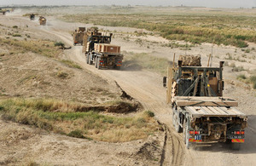
[[[223,64],[219,67],[182,66],[178,60],[178,68],[174,69],[172,89],[177,96],[222,96],[224,81]]]

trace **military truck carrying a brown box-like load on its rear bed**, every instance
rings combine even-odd
[[[84,34],[83,52],[86,56],[86,63],[95,64],[97,69],[114,68],[120,69],[123,55],[120,54],[120,46],[111,45],[110,35],[102,35],[96,29],[88,29]]]

